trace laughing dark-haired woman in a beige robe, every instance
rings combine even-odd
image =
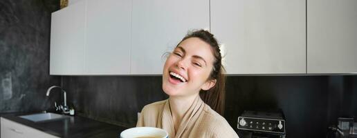
[[[205,30],[187,34],[163,67],[163,91],[169,99],[145,106],[137,126],[163,128],[170,137],[238,137],[219,115],[223,72],[213,34]]]

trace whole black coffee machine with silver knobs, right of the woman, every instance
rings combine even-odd
[[[243,138],[285,138],[286,122],[281,110],[246,110],[238,117],[238,134]]]

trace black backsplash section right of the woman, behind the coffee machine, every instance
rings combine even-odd
[[[338,117],[357,115],[357,76],[228,77],[227,87],[232,126],[244,110],[280,108],[287,137],[326,137]]]

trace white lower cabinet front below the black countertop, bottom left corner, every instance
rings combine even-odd
[[[1,137],[7,138],[26,138],[26,137],[42,137],[42,138],[58,138],[49,135],[46,132],[41,132],[35,128],[30,128],[15,121],[10,121],[1,117]]]

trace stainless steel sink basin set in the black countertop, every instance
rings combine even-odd
[[[55,114],[52,112],[46,112],[46,113],[38,113],[38,114],[32,114],[32,115],[21,115],[19,116],[23,119],[28,119],[30,121],[52,121],[52,120],[57,120],[57,119],[65,119],[68,118],[66,115],[59,115]]]

